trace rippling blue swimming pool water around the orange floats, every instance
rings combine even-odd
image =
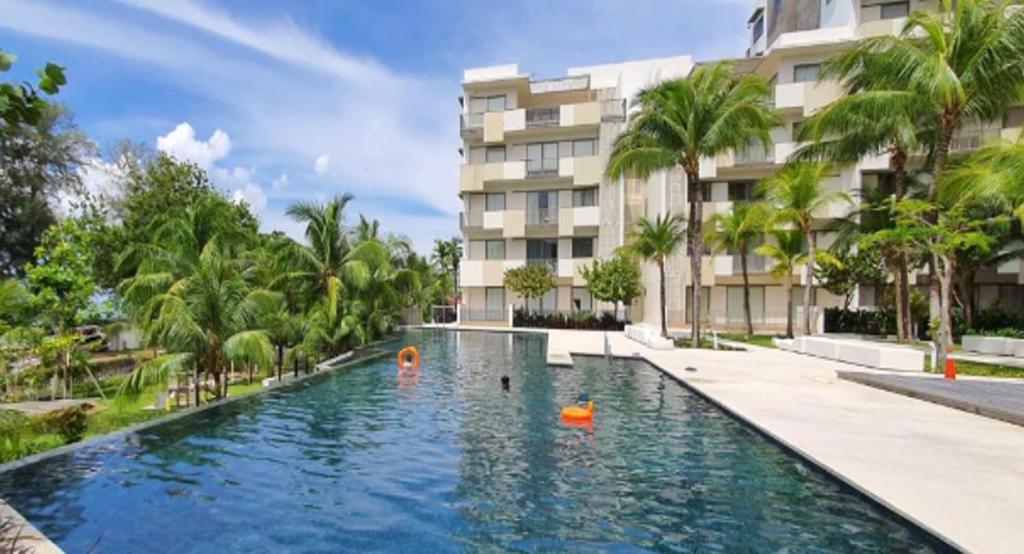
[[[393,355],[0,475],[68,552],[933,552],[642,361],[411,332]],[[504,392],[501,377],[511,386]],[[559,421],[581,394],[592,427]]]

